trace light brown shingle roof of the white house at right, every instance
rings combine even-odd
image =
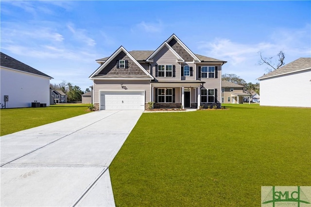
[[[293,73],[305,69],[311,69],[311,58],[299,58],[289,64],[284,65],[283,67],[280,67],[266,75],[259,77],[258,80]]]

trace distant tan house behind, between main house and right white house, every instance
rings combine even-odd
[[[222,80],[222,103],[242,104],[244,100],[250,103],[250,97],[250,94],[244,93],[244,86]]]

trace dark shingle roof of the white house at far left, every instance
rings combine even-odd
[[[3,67],[7,67],[7,68],[11,68],[11,69],[16,69],[16,70],[20,70],[23,72],[27,72],[27,73],[32,73],[35,75],[40,75],[40,76],[45,76],[47,78],[52,79],[51,76],[48,76],[45,73],[42,73],[41,71],[36,70],[35,68],[27,65],[27,64],[23,64],[22,62],[17,61],[16,59],[4,54],[3,52],[1,53],[1,59],[0,59],[0,65]]]

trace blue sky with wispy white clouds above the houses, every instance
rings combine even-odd
[[[175,33],[247,82],[266,57],[311,57],[311,1],[0,1],[1,51],[86,90],[96,59],[121,45],[155,50]]]

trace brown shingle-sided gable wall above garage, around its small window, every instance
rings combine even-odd
[[[119,60],[127,60],[128,68],[117,68],[117,61]],[[134,61],[125,54],[125,52],[121,51],[109,64],[107,64],[104,69],[99,72],[98,76],[103,75],[119,75],[122,76],[145,76],[146,74],[139,68]]]

